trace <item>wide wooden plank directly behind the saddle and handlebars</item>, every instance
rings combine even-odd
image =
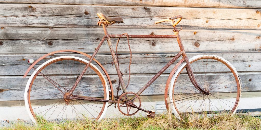
[[[182,15],[183,29],[260,29],[259,9],[219,9],[62,4],[1,4],[3,27],[98,27],[97,13],[121,16],[124,23],[110,28],[171,28],[156,20]],[[87,11],[87,12],[86,12]],[[171,13],[172,12],[172,13]],[[226,15],[224,15],[226,14]]]

